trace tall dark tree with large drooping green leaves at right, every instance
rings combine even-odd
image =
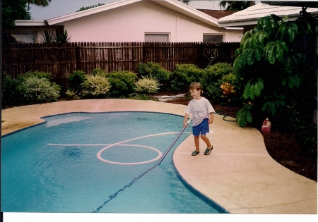
[[[245,32],[234,62],[237,81],[244,89],[245,107],[237,112],[241,127],[246,122],[259,125],[265,117],[286,127],[290,116],[302,119],[298,124],[312,121],[312,100],[317,97],[316,35],[317,18],[306,12],[288,22],[266,16]]]

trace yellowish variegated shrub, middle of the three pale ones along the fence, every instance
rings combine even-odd
[[[81,93],[83,96],[93,98],[105,98],[108,97],[110,91],[110,81],[100,75],[86,75],[86,80],[81,84],[83,90]]]

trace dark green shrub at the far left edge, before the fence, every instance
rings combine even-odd
[[[1,85],[1,100],[2,106],[16,106],[20,104],[21,94],[18,91],[18,85],[20,82],[11,78],[10,75],[3,73],[2,85]]]

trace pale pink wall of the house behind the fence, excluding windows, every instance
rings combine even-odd
[[[202,42],[203,34],[225,35],[224,42],[240,42],[242,30],[212,27],[151,1],[69,20],[64,25],[71,42],[144,42],[146,33],[170,33],[170,42]]]

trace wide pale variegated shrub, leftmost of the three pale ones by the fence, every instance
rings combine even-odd
[[[49,82],[47,78],[26,75],[18,90],[27,99],[32,102],[57,101],[61,87],[54,82]]]

